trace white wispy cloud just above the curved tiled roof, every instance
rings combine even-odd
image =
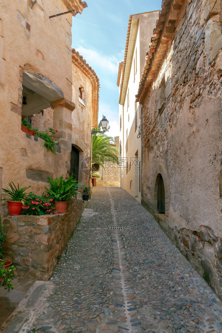
[[[117,73],[118,72],[118,62],[114,57],[106,57],[94,50],[86,49],[82,46],[78,47],[76,49],[84,59],[86,59],[86,62],[92,67],[95,67],[95,70],[97,67],[102,68],[104,71],[111,72],[111,73]]]

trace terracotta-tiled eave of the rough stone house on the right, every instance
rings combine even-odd
[[[150,49],[146,52],[145,67],[139,83],[136,102],[140,104],[146,96],[147,90],[151,87],[157,77],[158,70],[162,60],[168,51],[172,41],[175,25],[185,0],[163,0],[162,8],[159,12],[159,19],[156,21],[156,27],[153,30]]]

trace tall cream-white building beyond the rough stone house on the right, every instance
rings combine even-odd
[[[120,187],[141,199],[140,106],[135,102],[145,54],[158,11],[129,16],[124,60],[119,64]]]

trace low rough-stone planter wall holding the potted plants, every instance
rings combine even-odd
[[[84,201],[77,199],[65,214],[2,216],[8,239],[5,256],[15,265],[15,275],[48,280],[83,210]]]

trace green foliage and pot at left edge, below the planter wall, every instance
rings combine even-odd
[[[4,248],[3,244],[6,243],[6,234],[4,232],[2,223],[1,223],[1,215],[0,215],[0,287],[4,286],[5,289],[13,289],[13,284],[11,284],[11,279],[13,280],[13,270],[15,269],[10,260],[4,258]],[[11,266],[11,267],[10,267]],[[10,268],[9,268],[10,267]]]

